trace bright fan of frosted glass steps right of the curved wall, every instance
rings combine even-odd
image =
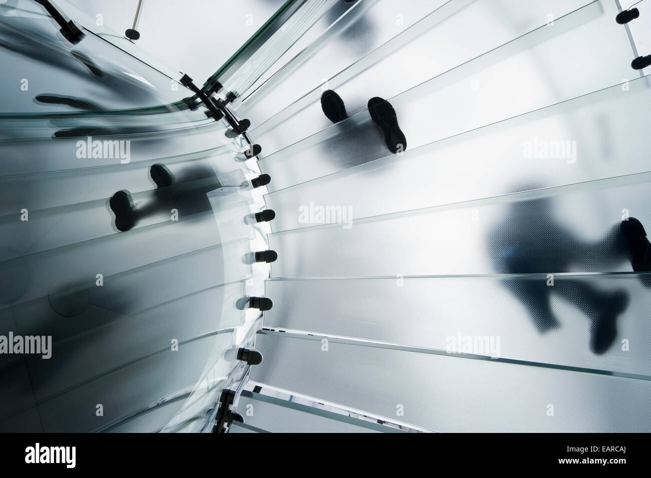
[[[238,107],[277,215],[253,384],[431,431],[648,430],[651,274],[624,230],[651,224],[650,83],[620,6],[431,10],[350,64],[305,49]]]

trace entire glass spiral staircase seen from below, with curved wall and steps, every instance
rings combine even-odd
[[[651,431],[646,3],[288,1],[196,85],[57,5],[0,4],[0,429]]]

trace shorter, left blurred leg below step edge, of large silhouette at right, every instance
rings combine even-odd
[[[529,318],[540,334],[559,327],[549,308],[549,289],[542,279],[512,278],[503,281],[506,288],[527,308]]]

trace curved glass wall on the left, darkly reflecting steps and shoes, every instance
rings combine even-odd
[[[33,4],[0,6],[0,334],[51,356],[0,356],[0,430],[210,432],[269,273],[260,171],[184,86]]]

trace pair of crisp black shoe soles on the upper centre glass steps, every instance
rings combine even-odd
[[[346,106],[340,96],[333,90],[326,90],[321,95],[321,109],[333,123],[339,123],[348,118]],[[378,96],[368,100],[368,113],[373,122],[380,127],[392,153],[400,153],[407,149],[407,139],[398,126],[398,116],[391,103]]]

